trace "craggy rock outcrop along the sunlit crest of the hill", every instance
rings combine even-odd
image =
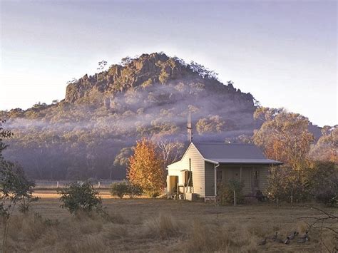
[[[128,58],[121,65],[114,64],[107,71],[94,76],[85,75],[66,88],[66,101],[76,103],[95,90],[102,94],[128,91],[130,88],[144,88],[153,83],[189,83],[205,84],[205,88],[227,90],[235,93],[232,85],[225,86],[212,76],[212,72],[197,64],[186,64],[179,58],[166,56],[164,53],[143,54],[139,58]],[[246,95],[237,91],[240,95]],[[252,100],[248,95],[247,99]]]

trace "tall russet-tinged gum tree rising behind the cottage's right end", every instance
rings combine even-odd
[[[309,120],[284,109],[258,108],[255,119],[263,120],[255,130],[253,141],[260,146],[267,158],[281,160],[295,170],[307,166],[307,154],[314,140],[309,133]]]

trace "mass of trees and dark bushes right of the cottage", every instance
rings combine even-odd
[[[262,126],[252,142],[267,158],[285,162],[270,169],[267,197],[286,202],[314,198],[327,205],[338,205],[338,126],[322,128],[314,143],[309,120],[284,109],[257,108],[255,118]]]

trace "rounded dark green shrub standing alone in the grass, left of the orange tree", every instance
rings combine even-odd
[[[63,202],[61,207],[66,208],[71,214],[102,210],[101,197],[90,182],[72,182],[68,188],[58,190],[58,194],[61,195],[60,201]]]

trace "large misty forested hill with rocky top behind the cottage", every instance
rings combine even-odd
[[[162,146],[163,158],[177,158],[189,112],[196,141],[249,141],[262,125],[250,93],[220,83],[198,63],[151,53],[107,70],[105,64],[69,83],[64,100],[0,111],[14,133],[5,157],[36,179],[121,179],[130,147],[142,137]]]

